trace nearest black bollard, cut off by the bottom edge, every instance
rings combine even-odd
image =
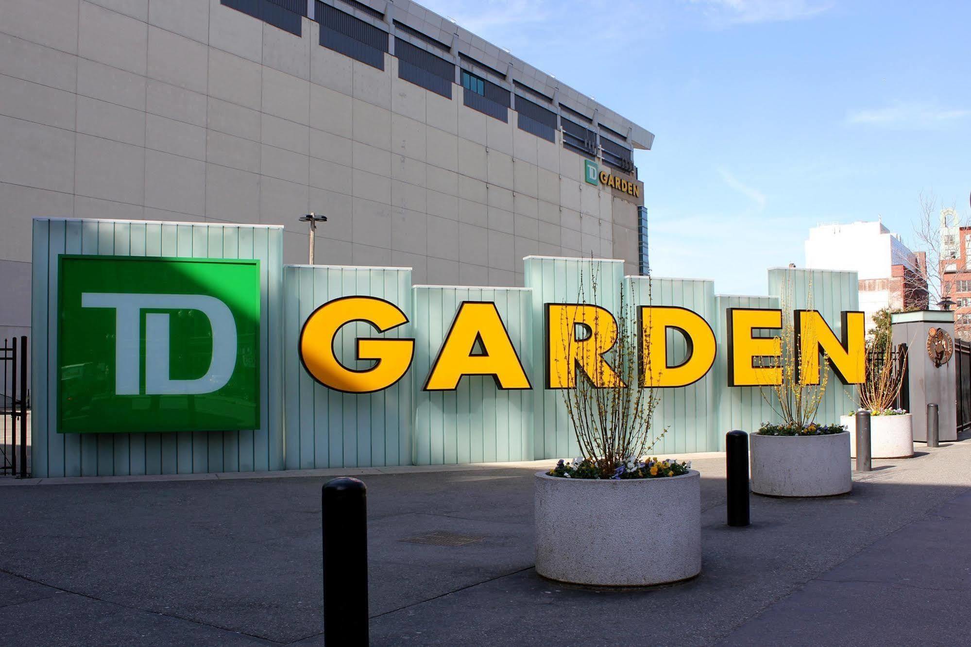
[[[367,645],[367,488],[352,478],[324,484],[323,641]]]

